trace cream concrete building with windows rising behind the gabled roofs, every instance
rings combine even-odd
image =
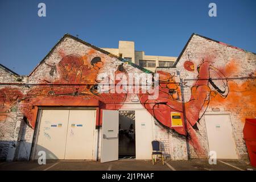
[[[172,67],[175,63],[177,57],[172,56],[148,56],[145,55],[144,51],[135,51],[134,42],[131,41],[122,41],[119,40],[118,48],[102,48],[105,51],[113,53],[118,57],[122,57],[127,61],[131,61],[139,65],[140,67],[144,67],[149,69],[150,71],[155,71],[156,67],[159,68],[168,68]]]

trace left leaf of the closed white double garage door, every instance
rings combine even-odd
[[[64,159],[69,110],[42,110],[34,159],[45,151],[46,159]]]

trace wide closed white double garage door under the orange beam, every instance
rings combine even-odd
[[[95,110],[42,110],[34,159],[93,159]]]

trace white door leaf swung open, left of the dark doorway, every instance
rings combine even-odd
[[[102,111],[101,163],[118,160],[118,110]]]

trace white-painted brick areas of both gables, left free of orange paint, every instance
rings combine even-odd
[[[59,52],[61,51],[64,51],[65,55],[68,55],[71,53],[85,55],[90,50],[91,48],[77,42],[74,39],[65,38],[65,40],[61,44],[59,44],[59,46],[57,46],[55,50],[53,50],[51,55],[47,57],[46,63],[48,64],[59,63],[61,59]],[[193,36],[193,38],[191,39],[191,42],[188,44],[188,47],[185,49],[183,55],[180,57],[179,63],[176,66],[177,68],[171,68],[171,69],[168,68],[168,69],[162,69],[162,70],[171,72],[171,73],[176,72],[178,70],[180,71],[181,78],[183,79],[196,78],[197,71],[188,72],[183,67],[184,61],[188,60],[188,54],[189,54],[189,59],[193,60],[195,62],[195,65],[200,64],[200,61],[205,56],[210,55],[214,58],[214,61],[215,61],[214,66],[217,68],[221,68],[224,65],[228,64],[230,60],[233,60],[233,59],[240,60],[240,63],[238,63],[239,69],[236,72],[232,73],[230,77],[243,77],[243,76],[248,76],[251,72],[255,73],[255,67],[256,67],[255,54],[241,51],[232,47],[228,47],[228,46],[213,42],[211,40],[201,38],[200,36],[197,36],[197,35]],[[117,60],[115,57],[105,55],[99,51],[95,51],[93,53],[93,57],[95,56],[100,56],[102,57],[102,59],[105,59],[106,61],[104,68],[100,70],[100,73],[109,72],[110,69],[116,70],[118,65],[121,64],[121,61]],[[142,71],[132,67],[131,65],[124,64],[123,66],[125,67],[128,73],[136,73],[136,72],[142,73]],[[35,71],[32,73],[30,77],[23,77],[23,80],[20,82],[36,84],[39,82],[44,82],[43,80],[47,80],[51,82],[59,78],[58,74],[55,76],[50,76],[49,71],[50,71],[50,68],[46,64],[41,64],[39,67],[35,69]],[[57,70],[57,73],[59,73],[59,70]],[[179,77],[176,77],[176,81],[179,81]],[[2,69],[0,69],[0,82],[17,82],[17,81],[15,77],[10,75],[10,73],[7,73],[6,71],[3,71]],[[194,84],[193,81],[187,83],[187,85],[189,86],[192,86],[193,84]],[[189,86],[185,88],[185,101],[188,101],[191,96],[191,90]],[[254,80],[254,86],[255,86],[255,80]],[[4,87],[5,86],[0,86],[0,89]],[[12,86],[12,87],[15,87],[15,86]],[[29,88],[24,86],[20,86],[19,88],[20,90],[22,90],[23,94],[26,94],[28,90],[30,90]],[[246,89],[250,89],[250,88],[246,88]],[[127,103],[131,103],[131,100],[138,99],[136,95],[129,95],[129,97],[127,98],[128,98],[128,100],[126,101]],[[240,103],[240,106],[237,107],[236,110],[229,110],[227,108],[222,108],[221,106],[222,106],[222,103],[220,103],[220,105],[217,106],[217,107],[220,107],[220,112],[218,112],[218,114],[227,113],[227,112],[230,113],[232,127],[234,131],[234,138],[237,144],[238,155],[240,158],[247,158],[247,151],[246,151],[245,143],[243,141],[243,134],[242,134],[244,123],[243,121],[240,120],[238,116],[241,116],[241,114],[243,114],[243,116],[245,117],[254,118],[256,116],[255,109],[248,109],[246,113],[240,113],[240,107],[247,107],[247,103]],[[15,136],[14,136],[14,130],[15,130],[16,122],[20,121],[22,123],[23,114],[20,111],[21,108],[22,108],[22,105],[18,104],[18,109],[10,113],[13,119],[7,119],[5,122],[0,122],[0,140],[1,140],[0,159],[7,158],[10,143],[13,141],[16,142]],[[208,107],[207,113],[213,113],[212,107]],[[27,125],[21,125],[21,126],[22,128],[20,128],[20,130],[24,131],[24,133],[20,134],[20,137],[19,137],[20,142],[16,144],[16,147],[18,148],[18,152],[16,151],[15,158],[20,160],[21,159],[27,160],[30,156],[31,143],[34,135],[34,130],[32,130]],[[198,137],[200,138],[200,143],[204,147],[204,150],[208,151],[208,141],[207,141],[207,134],[205,130],[204,117],[201,119],[200,125],[198,126],[199,126]],[[188,158],[187,146],[186,146],[184,136],[178,135],[174,131],[169,131],[167,129],[164,129],[161,125],[159,125],[159,123],[156,122],[155,138],[160,140],[160,142],[162,142],[162,150],[166,156],[170,155],[171,159],[174,159],[174,160],[181,160],[181,159]],[[189,149],[190,149],[192,158],[200,157],[195,154],[195,151],[193,151],[192,146],[190,146]],[[99,151],[100,151],[100,148],[99,148]]]

